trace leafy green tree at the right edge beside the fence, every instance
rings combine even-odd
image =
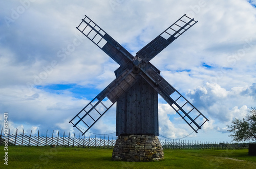
[[[229,135],[236,142],[255,141],[256,140],[256,109],[252,108],[250,113],[243,120],[234,119],[231,122],[233,125],[227,125],[233,134]]]

